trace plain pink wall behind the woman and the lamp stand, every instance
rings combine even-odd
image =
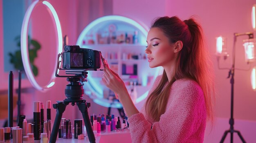
[[[183,20],[191,15],[198,15],[198,20],[204,29],[207,46],[212,55],[216,74],[216,117],[230,117],[230,79],[227,79],[228,70],[219,70],[216,62],[216,37],[227,37],[228,51],[231,55],[233,34],[252,31],[251,9],[255,0],[166,0],[166,15],[178,15]],[[254,32],[254,35],[256,33]],[[247,69],[249,66],[244,60],[242,40],[247,36],[240,36],[236,43],[236,68]],[[231,57],[221,60],[222,67],[231,67]],[[256,66],[253,63],[252,66]],[[234,118],[256,120],[256,92],[250,84],[250,71],[235,70],[234,85]]]

